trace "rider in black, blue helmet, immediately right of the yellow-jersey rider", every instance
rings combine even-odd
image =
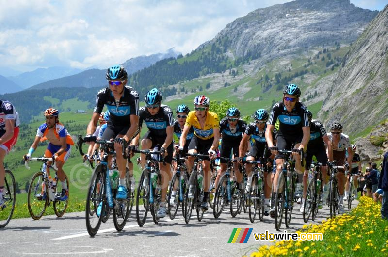
[[[234,159],[239,158],[239,156],[244,156],[244,154],[239,155],[239,146],[242,139],[242,134],[246,130],[246,122],[240,119],[240,111],[236,107],[231,107],[226,112],[226,117],[220,121],[220,134],[222,137],[220,156],[224,158],[230,158],[231,153],[233,153]],[[217,178],[215,179],[215,185],[218,184],[218,181],[222,174],[226,171],[227,161],[220,159],[220,171],[217,173]],[[242,173],[239,171],[238,164],[234,165],[234,174],[236,175],[237,188],[235,194],[241,195],[240,190],[245,189],[245,184],[242,181]],[[230,177],[233,177],[232,174]]]

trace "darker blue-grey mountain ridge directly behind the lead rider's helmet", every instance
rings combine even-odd
[[[156,62],[165,58],[176,58],[179,52],[174,51],[174,48],[170,48],[165,53],[156,53],[149,56],[138,56],[127,60],[123,65],[127,69],[129,74],[136,72],[139,69],[146,68]],[[105,79],[106,70],[90,69],[80,72],[72,76],[66,76],[63,78],[49,80],[47,82],[35,83],[30,89],[43,89],[53,87],[93,87],[104,86],[107,84]]]

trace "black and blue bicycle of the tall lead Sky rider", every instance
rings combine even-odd
[[[79,135],[76,149],[79,149],[82,156],[84,155],[82,152],[82,144],[84,142],[85,140]],[[93,171],[86,198],[86,228],[89,235],[92,237],[97,234],[103,217],[106,217],[107,213],[111,210],[113,210],[114,227],[117,231],[121,231],[129,218],[134,199],[129,184],[128,173],[126,173],[128,198],[116,199],[115,197],[117,188],[113,188],[113,183],[117,184],[117,181],[111,181],[109,173],[112,170],[108,167],[108,156],[116,156],[116,153],[111,151],[111,149],[114,148],[114,143],[108,140],[96,140],[95,142],[100,144],[104,153],[101,162]],[[123,157],[126,159],[127,157],[124,150],[125,146],[123,145]]]

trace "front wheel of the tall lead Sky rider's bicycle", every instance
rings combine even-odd
[[[103,213],[105,213],[106,198],[105,172],[103,164],[96,166],[90,179],[88,195],[86,198],[86,228],[89,235],[96,235]]]

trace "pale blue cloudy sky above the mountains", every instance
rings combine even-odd
[[[106,68],[174,47],[183,54],[226,24],[290,0],[0,0],[0,74]],[[387,0],[351,0],[382,10]]]

